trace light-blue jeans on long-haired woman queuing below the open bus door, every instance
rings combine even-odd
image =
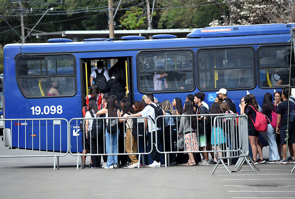
[[[119,132],[119,129],[118,129],[118,132]],[[106,153],[118,153],[118,132],[110,134],[105,129]],[[108,155],[107,163],[108,163],[107,167],[114,165],[114,163],[118,164],[118,156]]]

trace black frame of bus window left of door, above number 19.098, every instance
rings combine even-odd
[[[31,75],[31,76],[19,76],[18,75],[18,59],[23,57],[46,57],[46,56],[72,56],[73,57],[73,73],[72,74],[52,74],[52,75]],[[75,85],[75,92],[73,95],[59,95],[59,96],[26,96],[20,89],[20,84],[18,82],[19,78],[51,78],[51,77],[74,77],[74,85]],[[15,56],[15,79],[16,83],[18,85],[18,89],[21,92],[21,94],[24,96],[24,98],[27,99],[36,99],[36,98],[65,98],[65,97],[73,97],[77,94],[77,64],[76,64],[76,56],[72,53],[46,53],[46,54],[18,54]]]

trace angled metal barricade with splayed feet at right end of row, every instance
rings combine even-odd
[[[246,115],[217,116],[214,118],[213,130],[214,154],[218,162],[212,174],[217,169],[219,163],[222,163],[226,171],[231,174],[223,162],[224,159],[229,158],[239,158],[235,165],[237,167],[236,172],[242,168],[245,162],[249,164],[253,171],[254,169],[250,162],[259,170],[251,158],[249,158],[248,119]]]

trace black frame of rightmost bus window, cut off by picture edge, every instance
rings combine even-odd
[[[259,61],[259,50],[261,48],[266,48],[266,47],[291,47],[291,44],[290,43],[282,43],[282,44],[264,44],[264,45],[259,45],[257,47],[257,50],[256,50],[256,57],[258,57],[257,59],[257,84],[258,84],[258,87],[261,88],[261,89],[281,89],[281,88],[284,88],[284,87],[262,87],[262,85],[260,85],[260,69],[264,69],[264,68],[285,68],[285,67],[290,67],[290,65],[285,65],[285,66],[264,66],[264,67],[260,67],[260,61]],[[293,52],[294,52],[294,49],[293,49]],[[292,49],[291,49],[291,53],[292,53]],[[292,65],[291,65],[292,67]],[[295,65],[293,66],[295,67]],[[295,86],[290,86],[291,88],[295,88]]]

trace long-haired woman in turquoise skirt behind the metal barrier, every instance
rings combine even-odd
[[[211,109],[210,109],[210,114],[222,114],[222,110],[219,106],[219,103],[217,102],[213,102],[212,105],[211,105]],[[218,115],[213,115],[211,117],[211,120],[214,121],[214,118],[217,117]],[[225,143],[226,141],[226,138],[223,134],[223,130],[221,127],[217,128],[215,127],[215,131],[214,131],[214,127],[212,127],[212,134],[211,134],[211,145],[212,145],[212,149],[214,150],[215,148],[215,144],[223,144]],[[221,149],[218,149],[218,146],[216,146],[216,150],[221,150]],[[222,157],[222,154],[221,152],[219,152],[219,156]],[[217,160],[217,157],[215,157],[215,154],[214,154],[214,161],[211,161],[209,163],[209,165],[214,165],[218,162]]]

